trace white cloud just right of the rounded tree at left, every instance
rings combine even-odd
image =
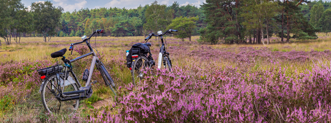
[[[81,8],[85,7],[85,4],[87,3],[86,0],[82,0],[80,2],[74,3],[74,4],[67,4],[65,3],[66,0],[53,0],[54,6],[61,6],[65,11],[73,11],[75,9],[79,10]],[[77,1],[77,0],[76,0]]]

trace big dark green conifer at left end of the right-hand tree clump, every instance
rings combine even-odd
[[[206,0],[201,7],[207,27],[200,30],[200,40],[213,44],[220,39],[224,43],[242,42],[239,0]]]

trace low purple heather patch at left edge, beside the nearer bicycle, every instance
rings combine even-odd
[[[41,84],[37,69],[51,66],[49,61],[10,61],[0,63],[0,96],[12,96],[14,103],[29,96]]]

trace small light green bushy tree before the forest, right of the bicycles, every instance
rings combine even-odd
[[[195,24],[198,20],[198,17],[177,17],[172,20],[172,23],[168,26],[168,29],[178,30],[178,35],[175,35],[176,38],[180,38],[184,41],[184,38],[189,37],[191,41],[192,31],[197,28]]]

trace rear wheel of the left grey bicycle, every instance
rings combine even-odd
[[[44,86],[41,91],[42,104],[49,113],[63,113],[71,115],[71,113],[78,109],[79,99],[61,101],[58,100],[56,96],[60,94],[63,86],[63,92],[78,91],[78,86],[75,83],[66,85],[67,82],[65,83],[61,76],[62,74],[60,74],[60,79],[58,79],[56,75],[45,78]]]

